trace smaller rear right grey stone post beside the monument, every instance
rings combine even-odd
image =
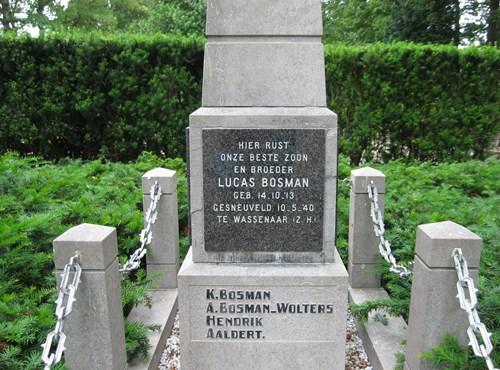
[[[378,191],[378,205],[384,212],[385,175],[365,167],[351,172],[349,205],[349,283],[351,288],[379,288],[378,253],[380,238],[373,232],[368,184],[373,181]]]

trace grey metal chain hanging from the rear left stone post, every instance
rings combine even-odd
[[[130,255],[129,260],[120,269],[120,273],[124,275],[128,275],[133,270],[137,270],[139,268],[141,265],[141,259],[146,255],[146,245],[151,244],[151,240],[153,239],[151,226],[156,222],[156,218],[158,217],[156,206],[161,198],[161,187],[158,185],[157,181],[155,181],[155,184],[151,186],[149,196],[151,198],[151,203],[149,204],[149,208],[144,216],[146,227],[142,229],[140,233],[141,246]]]

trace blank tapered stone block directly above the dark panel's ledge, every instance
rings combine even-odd
[[[323,45],[271,40],[208,43],[202,102],[204,107],[324,107]]]

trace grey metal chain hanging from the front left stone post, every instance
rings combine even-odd
[[[59,287],[59,295],[56,300],[56,311],[55,315],[57,317],[57,323],[54,331],[47,335],[45,343],[42,344],[42,361],[45,364],[45,370],[50,369],[53,365],[61,361],[62,354],[66,349],[64,343],[66,341],[66,335],[63,333],[64,319],[73,310],[73,302],[75,301],[75,294],[78,289],[78,284],[80,283],[80,276],[82,274],[82,268],[79,262],[80,257],[75,255],[71,257],[69,263],[64,266],[64,271],[62,273],[62,281]],[[74,271],[73,278],[70,282],[70,274]],[[55,343],[52,342],[55,339]],[[52,347],[55,347],[55,352],[51,353]]]

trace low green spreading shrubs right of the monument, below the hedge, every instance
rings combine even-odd
[[[372,164],[387,177],[385,194],[386,238],[390,241],[396,259],[405,265],[413,261],[416,230],[418,225],[450,220],[467,227],[483,240],[479,267],[478,311],[482,322],[493,333],[495,348],[500,346],[500,162],[489,158],[486,161],[465,163],[432,164],[412,163],[405,165],[393,161],[386,165]],[[349,176],[350,167],[340,163],[340,176]],[[346,257],[346,233],[348,225],[349,189],[341,187],[338,211],[338,245]],[[344,259],[345,260],[345,259]],[[389,313],[408,319],[411,278],[404,280],[389,272],[382,263],[383,285],[390,294],[388,300],[368,302],[353,307],[354,313],[366,318],[376,308],[385,308]],[[458,304],[458,299],[457,299]],[[464,362],[453,359],[456,346],[444,345],[428,358],[444,363],[443,357],[450,355],[449,369],[481,369],[484,361],[473,355],[462,354]],[[468,362],[470,361],[470,362]],[[462,367],[454,367],[459,364]],[[494,362],[500,362],[498,351]]]

